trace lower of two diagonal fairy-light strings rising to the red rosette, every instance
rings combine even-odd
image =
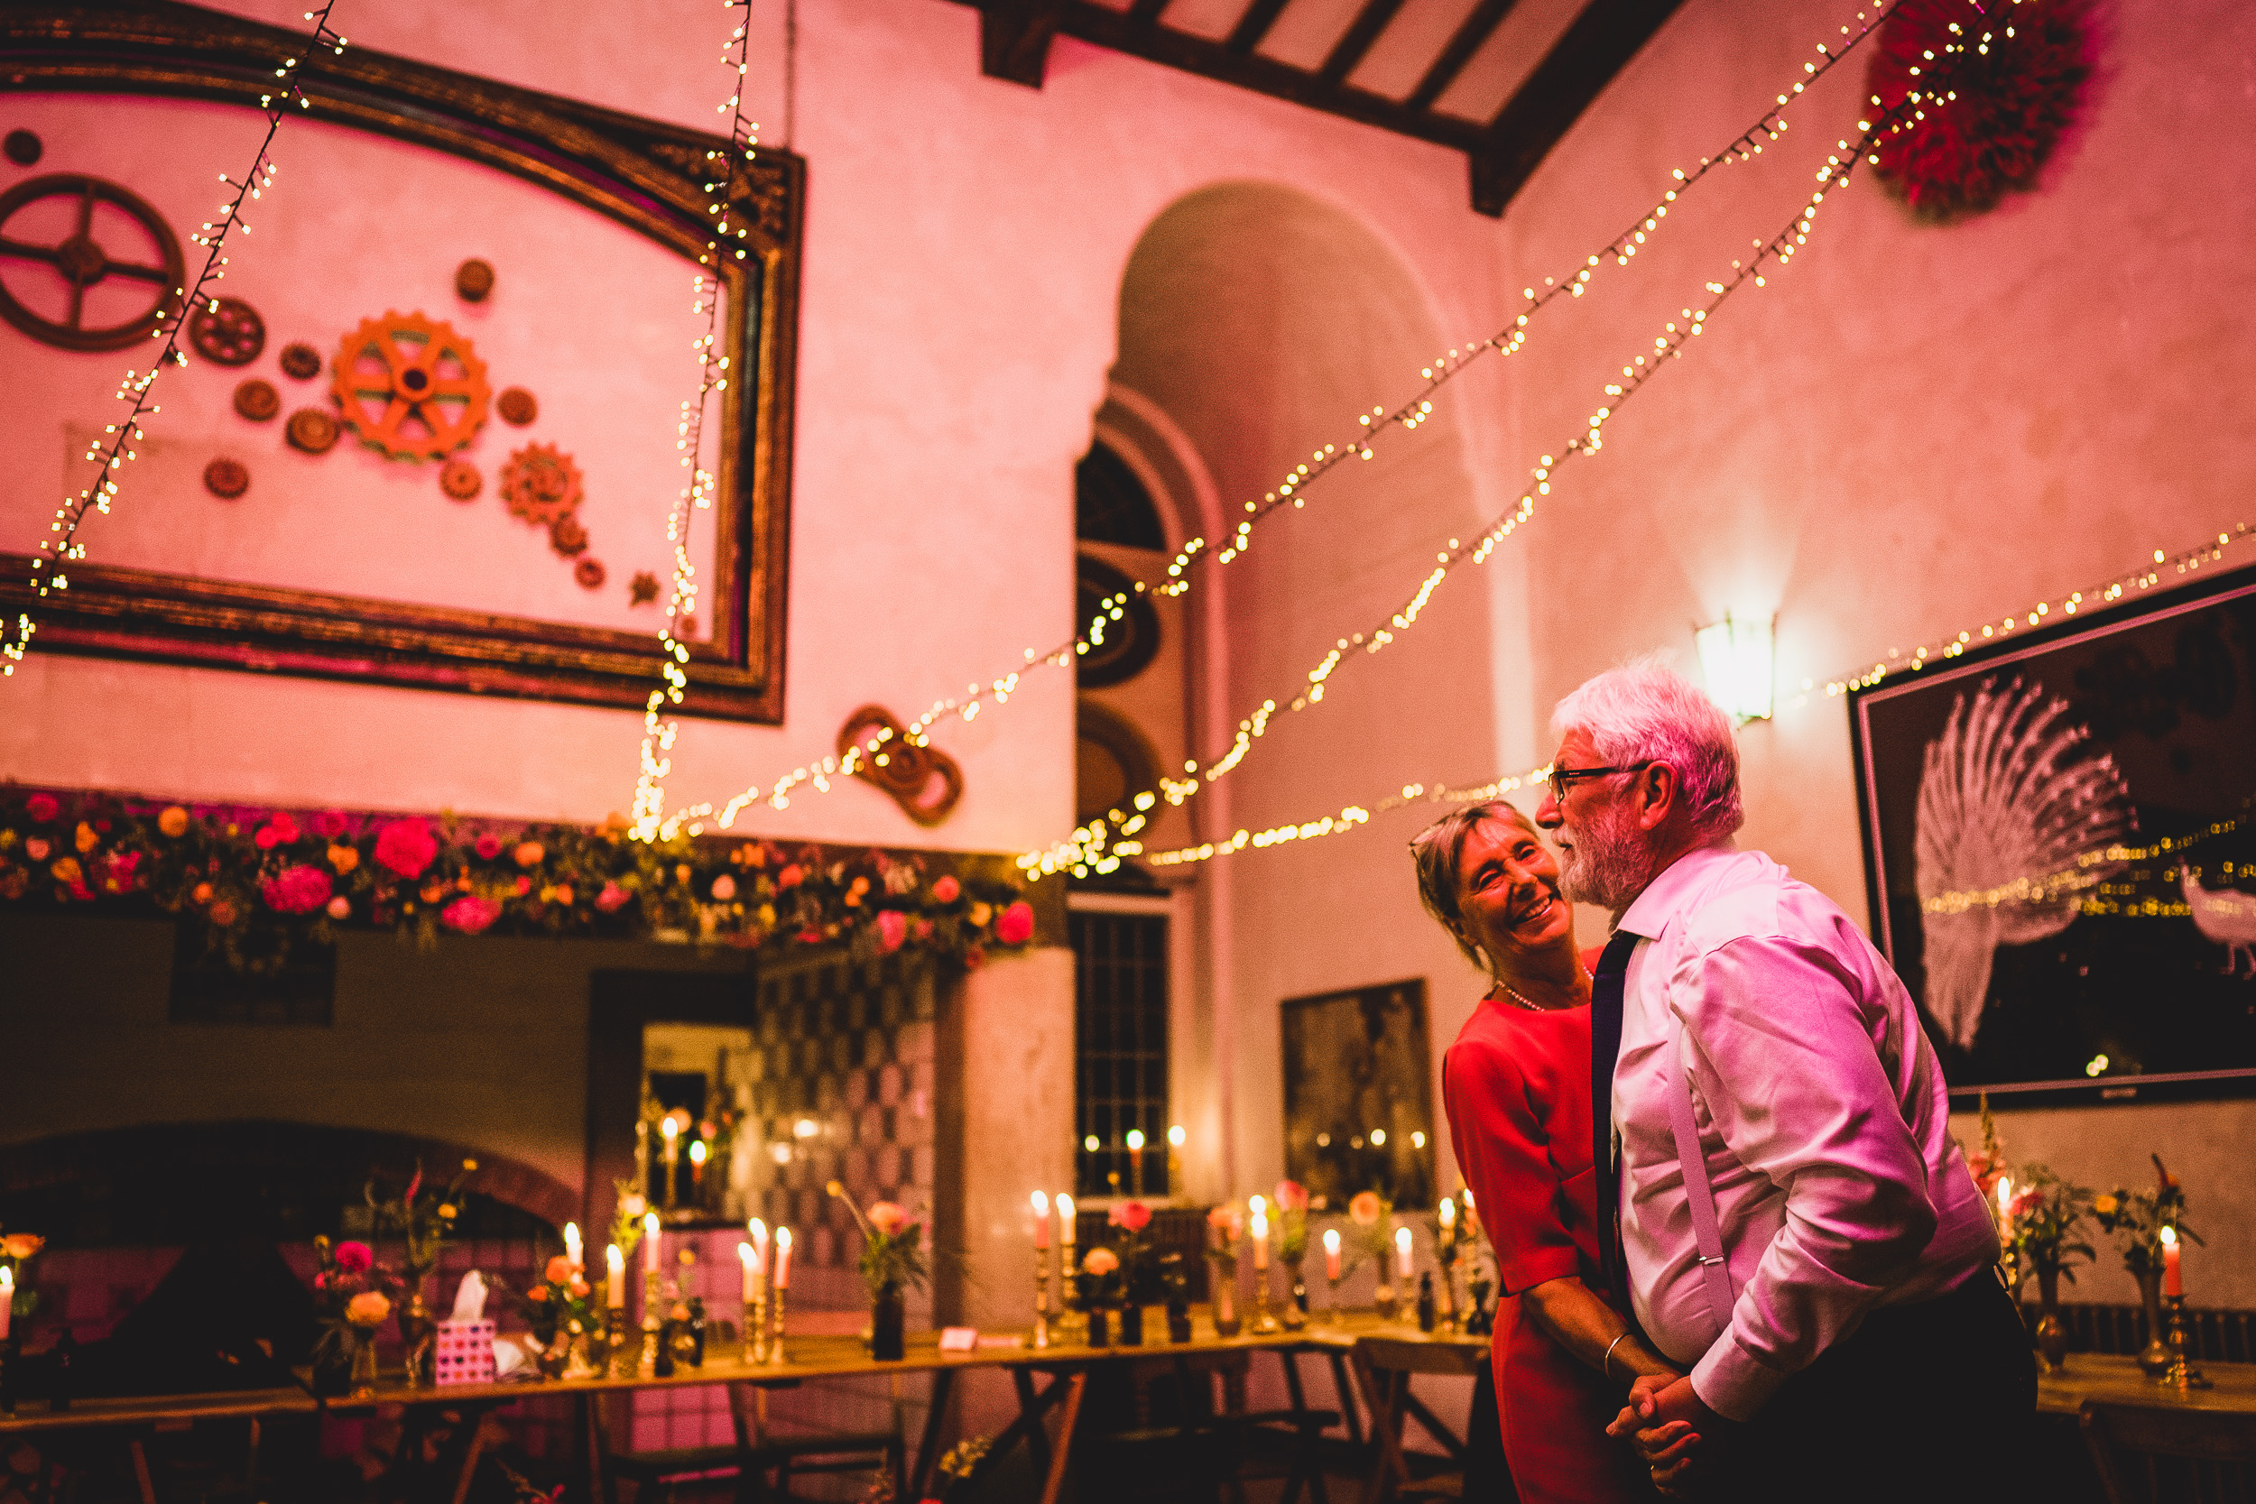
[[[1663,327],[1663,331],[1654,336],[1651,354],[1638,354],[1627,365],[1622,365],[1622,379],[1606,383],[1604,388],[1606,399],[1590,413],[1584,431],[1575,435],[1563,446],[1561,453],[1588,458],[1595,455],[1600,449],[1604,449],[1604,433],[1602,433],[1604,426],[1622,410],[1622,406],[1631,397],[1636,397],[1636,392],[1645,388],[1647,381],[1654,379],[1654,374],[1658,374],[1663,361],[1681,359],[1683,347],[1692,338],[1699,338],[1699,334],[1708,327],[1708,318],[1712,318],[1715,311],[1735,291],[1739,291],[1748,282],[1753,282],[1755,286],[1766,286],[1769,284],[1769,277],[1764,273],[1766,264],[1775,262],[1778,268],[1791,264],[1794,253],[1809,244],[1809,230],[1814,228],[1818,207],[1825,203],[1825,194],[1843,187],[1850,174],[1854,171],[1857,162],[1870,156],[1872,142],[1879,140],[1884,131],[1895,129],[1904,117],[1915,113],[1924,95],[1913,92],[1902,104],[1886,110],[1879,120],[1857,122],[1861,131],[1857,144],[1852,147],[1845,138],[1836,142],[1836,151],[1830,153],[1825,158],[1825,165],[1818,167],[1816,171],[1816,183],[1818,183],[1816,189],[1809,194],[1807,201],[1803,201],[1800,210],[1787,223],[1787,228],[1773,235],[1769,241],[1755,241],[1753,257],[1746,262],[1733,262],[1733,273],[1728,280],[1708,282],[1706,284],[1708,302],[1703,302],[1699,309],[1685,307],[1678,313],[1678,320],[1669,320]],[[1843,158],[1841,153],[1848,156]],[[1369,658],[1383,652],[1385,647],[1394,645],[1396,640],[1401,640],[1401,636],[1412,625],[1417,625],[1419,613],[1433,600],[1433,593],[1462,564],[1484,564],[1489,555],[1507,537],[1512,537],[1512,532],[1521,523],[1525,523],[1534,514],[1536,501],[1541,496],[1550,496],[1552,474],[1559,462],[1561,460],[1554,460],[1552,455],[1543,455],[1532,471],[1530,489],[1521,494],[1518,503],[1509,512],[1493,519],[1489,528],[1480,532],[1480,537],[1471,541],[1448,539],[1448,548],[1435,555],[1435,564],[1433,568],[1426,570],[1426,577],[1419,582],[1417,591],[1390,618],[1385,618],[1369,631],[1358,631],[1354,636],[1338,638],[1333,647],[1324,654],[1324,658],[1313,670],[1308,670],[1304,688],[1286,701],[1286,708],[1306,710],[1311,706],[1322,704],[1331,676],[1345,663],[1358,656]],[[1196,794],[1202,782],[1214,782],[1216,778],[1223,778],[1225,773],[1236,769],[1252,751],[1252,744],[1268,731],[1268,722],[1277,713],[1277,708],[1279,708],[1277,699],[1261,701],[1261,708],[1254,715],[1239,722],[1230,751],[1223,753],[1211,764],[1207,764],[1202,773],[1196,762],[1187,764],[1182,778],[1160,780],[1157,796],[1151,791],[1142,791],[1128,800],[1130,805],[1128,809],[1108,809],[1103,816],[1087,821],[1085,825],[1076,828],[1067,839],[1049,846],[1047,850],[1024,852],[1017,859],[1020,870],[1026,873],[1029,882],[1051,873],[1072,873],[1074,877],[1087,877],[1090,873],[1101,875],[1114,870],[1121,857],[1142,855],[1142,846],[1135,841],[1135,837],[1151,821],[1151,809],[1157,807],[1157,798],[1164,796],[1171,805],[1180,805],[1184,798]],[[1351,830],[1356,823],[1360,823],[1358,814],[1360,807],[1351,805],[1340,816],[1324,816],[1320,821],[1279,825],[1270,834],[1277,837],[1277,832],[1281,830],[1293,830],[1295,832],[1293,839],[1302,839],[1299,837],[1302,830],[1311,830],[1311,834],[1336,834],[1340,830]],[[1117,843],[1121,837],[1126,837],[1126,848]],[[1243,850],[1250,843],[1252,834],[1241,830],[1230,841],[1205,843],[1198,848],[1182,848],[1178,852],[1169,852],[1169,857],[1171,864],[1205,861],[1216,855],[1225,855],[1230,850]],[[1193,855],[1193,852],[1205,852],[1205,855]]]

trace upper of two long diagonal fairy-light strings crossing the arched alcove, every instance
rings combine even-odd
[[[1433,395],[1444,383],[1462,374],[1471,361],[1491,352],[1505,356],[1518,352],[1521,345],[1525,345],[1527,340],[1527,327],[1536,313],[1541,313],[1548,304],[1552,304],[1561,295],[1581,298],[1590,284],[1593,271],[1604,266],[1604,262],[1611,259],[1615,266],[1627,266],[1629,259],[1636,257],[1636,253],[1642,246],[1647,246],[1654,235],[1658,235],[1660,221],[1667,219],[1669,205],[1674,205],[1685,192],[1690,192],[1712,171],[1730,162],[1753,160],[1755,156],[1762,153],[1762,142],[1780,140],[1780,135],[1787,131],[1784,108],[1791,104],[1791,99],[1796,99],[1805,88],[1816,83],[1850,52],[1854,52],[1857,45],[1863,43],[1863,38],[1870,36],[1891,14],[1895,14],[1900,5],[1902,0],[1893,0],[1891,5],[1875,9],[1870,18],[1866,16],[1866,11],[1859,9],[1857,27],[1854,29],[1848,25],[1841,27],[1841,36],[1848,38],[1845,43],[1818,43],[1816,52],[1821,54],[1823,63],[1803,63],[1805,77],[1796,79],[1787,92],[1780,92],[1775,97],[1775,104],[1766,106],[1764,113],[1755,120],[1755,124],[1739,131],[1739,135],[1735,135],[1730,144],[1726,144],[1721,151],[1703,156],[1692,167],[1692,171],[1685,169],[1672,171],[1672,187],[1667,187],[1663,196],[1647,207],[1645,214],[1631,221],[1629,228],[1615,235],[1606,246],[1584,257],[1584,264],[1577,266],[1572,275],[1563,280],[1545,277],[1541,293],[1534,286],[1527,286],[1523,291],[1527,300],[1525,307],[1514,316],[1514,320],[1505,329],[1489,336],[1487,340],[1473,340],[1464,347],[1446,352],[1444,356],[1437,356],[1430,365],[1426,365],[1419,372],[1426,386],[1419,388],[1415,397],[1410,397],[1408,401],[1399,404],[1392,410],[1378,406],[1372,408],[1372,413],[1358,415],[1358,433],[1351,440],[1318,446],[1315,451],[1311,451],[1308,462],[1295,465],[1293,471],[1288,471],[1279,480],[1277,489],[1263,496],[1263,501],[1243,503],[1248,516],[1239,521],[1239,528],[1225,548],[1214,550],[1209,548],[1207,539],[1193,537],[1169,561],[1164,577],[1148,582],[1139,580],[1130,589],[1135,593],[1182,595],[1184,591],[1191,589],[1191,570],[1196,564],[1205,559],[1230,564],[1232,559],[1245,552],[1248,537],[1257,523],[1284,510],[1288,503],[1293,510],[1304,507],[1308,487],[1324,474],[1329,474],[1333,467],[1345,462],[1349,455],[1358,455],[1365,460],[1374,458],[1372,440],[1381,431],[1396,424],[1410,431],[1424,424],[1433,415]],[[1539,476],[1539,485],[1543,492],[1548,492],[1545,476]],[[1426,593],[1430,593],[1430,586]],[[1024,649],[1024,663],[1017,670],[990,679],[986,685],[972,681],[966,685],[963,695],[943,695],[934,699],[920,715],[916,715],[905,726],[905,740],[909,744],[923,746],[929,740],[927,733],[936,722],[950,715],[961,715],[968,722],[979,715],[984,704],[995,704],[995,706],[1008,704],[1011,695],[1020,688],[1026,670],[1072,667],[1072,663],[1078,656],[1085,656],[1092,647],[1103,645],[1105,622],[1121,620],[1126,616],[1126,604],[1128,604],[1128,591],[1108,595],[1105,600],[1099,602],[1096,616],[1087,622],[1087,629],[1072,643],[1060,643],[1049,652],[1038,652],[1029,647]],[[1421,600],[1417,604],[1424,607]],[[670,663],[666,665],[666,674],[668,674],[666,690],[675,701],[679,701],[681,685],[672,683],[675,674],[679,674],[679,658],[675,658],[672,654]],[[1275,706],[1268,706],[1261,715],[1266,717],[1270,710],[1275,710]],[[704,830],[704,821],[715,821],[722,828],[733,825],[735,816],[756,803],[767,803],[774,809],[785,809],[790,807],[792,794],[803,787],[812,787],[817,794],[828,794],[835,787],[832,780],[851,778],[855,767],[860,767],[862,758],[884,755],[884,742],[889,740],[889,735],[891,733],[880,733],[873,735],[866,744],[851,746],[841,755],[828,755],[819,762],[801,764],[790,773],[776,778],[765,789],[760,785],[749,785],[747,789],[742,789],[722,805],[713,805],[711,800],[706,800],[706,803],[684,805],[675,814],[666,814],[663,778],[670,762],[661,760],[656,753],[670,749],[672,735],[670,726],[661,728],[652,713],[650,717],[645,717],[643,771],[636,785],[636,832],[672,834],[675,830],[688,828],[695,834]],[[1236,758],[1243,758],[1241,751],[1236,749],[1232,751]],[[1230,767],[1236,767],[1236,760],[1232,760]]]

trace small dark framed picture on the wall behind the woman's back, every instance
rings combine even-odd
[[[1435,1200],[1426,981],[1284,1001],[1284,1168],[1315,1209]]]

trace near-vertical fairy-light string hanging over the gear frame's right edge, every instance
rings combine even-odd
[[[697,352],[697,395],[681,404],[681,422],[675,428],[675,449],[688,485],[675,496],[666,512],[666,541],[675,550],[672,591],[666,598],[666,620],[659,627],[659,685],[643,701],[643,749],[641,771],[634,782],[634,814],[629,830],[638,841],[654,841],[666,830],[666,776],[672,771],[672,746],[681,724],[663,717],[666,706],[679,706],[688,688],[686,665],[688,643],[677,636],[684,618],[697,611],[697,564],[690,559],[690,516],[713,507],[713,471],[704,462],[704,419],[715,392],[729,390],[729,356],[715,354],[720,334],[722,280],[720,266],[726,250],[744,259],[744,225],[729,223],[729,194],[738,174],[751,165],[760,144],[758,122],[744,120],[744,74],[751,68],[751,0],[722,0],[722,9],[742,11],[735,34],[722,47],[722,63],[735,68],[729,101],[717,113],[729,115],[729,147],[706,151],[706,216],[713,221],[704,253],[697,257],[697,275],[690,291],[690,316],[704,316],[704,334],[693,340]]]

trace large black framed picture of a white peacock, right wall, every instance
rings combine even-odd
[[[2256,1089],[2256,570],[1852,692],[1872,938],[1954,1094]]]

